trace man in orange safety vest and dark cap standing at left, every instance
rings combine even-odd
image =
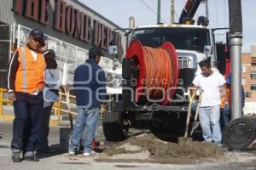
[[[12,160],[39,161],[36,155],[38,130],[44,100],[44,32],[33,29],[26,47],[17,48],[10,60],[9,100],[14,101],[15,120],[11,144]]]

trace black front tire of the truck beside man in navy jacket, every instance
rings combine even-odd
[[[122,141],[127,138],[120,112],[106,112],[102,115],[103,133],[108,141]]]

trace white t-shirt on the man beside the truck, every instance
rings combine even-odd
[[[197,74],[192,83],[202,92],[200,106],[220,105],[219,87],[224,85],[225,82],[224,77],[217,71],[213,71],[209,77]]]

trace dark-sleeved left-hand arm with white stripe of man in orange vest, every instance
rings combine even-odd
[[[8,71],[8,92],[9,92],[9,100],[15,100],[15,76],[16,71],[18,70],[19,66],[19,53],[16,50],[15,54],[13,54],[12,58],[9,62],[9,71]]]

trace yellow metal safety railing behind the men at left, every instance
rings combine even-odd
[[[3,105],[13,105],[13,102],[9,101],[9,99],[7,98],[8,95],[4,95],[7,94],[7,89],[5,88],[0,88],[0,118],[3,117],[4,111],[3,111]],[[75,105],[75,96],[74,95],[70,95],[70,94],[65,94],[62,92],[59,92],[59,100],[57,102],[55,102],[55,104],[52,107],[52,111],[55,113],[55,116],[57,117],[56,121],[59,122],[61,121],[61,115],[63,114],[69,114],[68,111],[68,107],[70,106],[71,108],[74,108]],[[67,97],[69,98],[69,106],[67,103]],[[66,109],[67,107],[67,109]],[[77,113],[75,111],[70,112],[73,116],[76,116]]]

